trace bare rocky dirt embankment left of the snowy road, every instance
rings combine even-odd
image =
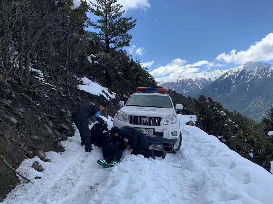
[[[109,104],[102,114],[105,116],[118,110],[118,97],[109,102],[80,91],[75,80],[67,93],[57,81],[45,84],[31,76],[31,87],[23,87],[15,79],[9,78],[7,85],[0,87],[0,154],[15,169],[26,158],[63,152],[60,141],[74,136],[71,115],[79,105],[105,101]],[[18,184],[18,176],[0,158],[0,202]]]

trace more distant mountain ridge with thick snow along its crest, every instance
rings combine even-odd
[[[184,96],[191,96],[218,79],[227,71],[228,69],[218,69],[211,72],[203,71],[200,73],[192,74],[177,73],[176,76],[166,76],[163,78],[157,78],[155,80],[159,86],[178,91]]]

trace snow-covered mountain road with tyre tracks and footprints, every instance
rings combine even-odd
[[[38,157],[24,160],[18,171],[32,181],[17,186],[3,203],[272,204],[273,175],[216,137],[186,125],[190,117],[180,115],[183,142],[177,154],[152,160],[127,150],[109,169],[97,164],[99,148],[84,152],[76,132],[62,142],[65,152],[46,153],[50,163]],[[108,121],[111,127],[110,117]],[[43,172],[31,167],[34,161],[42,164]]]

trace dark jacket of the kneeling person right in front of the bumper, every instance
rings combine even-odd
[[[119,136],[124,142],[128,142],[131,149],[134,149],[138,142],[147,143],[146,135],[130,126],[122,127]]]

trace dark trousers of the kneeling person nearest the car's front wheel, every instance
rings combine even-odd
[[[160,151],[160,150],[153,150],[153,153],[157,157],[162,157],[164,152]],[[145,158],[152,157],[152,152],[149,149],[149,146],[147,144],[147,140],[146,141],[145,140],[137,141],[131,154],[134,154],[134,155],[141,154]]]

